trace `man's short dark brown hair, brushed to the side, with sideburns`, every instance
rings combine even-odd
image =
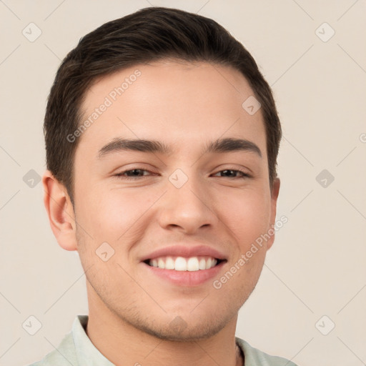
[[[57,71],[44,117],[46,166],[64,184],[72,204],[74,156],[79,139],[69,142],[66,137],[81,123],[86,89],[97,77],[166,58],[221,64],[244,75],[262,105],[272,186],[277,177],[282,132],[272,91],[253,57],[212,19],[179,9],[150,7],[109,21],[86,34]]]

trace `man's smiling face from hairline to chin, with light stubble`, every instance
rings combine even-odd
[[[260,109],[242,107],[253,94],[238,71],[203,62],[137,65],[91,86],[74,162],[89,307],[169,340],[236,320],[272,245],[245,255],[274,224],[279,184],[271,192]]]

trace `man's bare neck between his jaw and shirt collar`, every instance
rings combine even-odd
[[[110,311],[99,298],[90,300],[86,334],[99,352],[116,366],[243,365],[241,352],[235,345],[237,315],[212,337],[177,342],[142,332]]]

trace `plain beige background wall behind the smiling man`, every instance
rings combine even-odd
[[[87,314],[79,258],[56,243],[41,184],[23,180],[45,169],[42,122],[56,69],[81,36],[151,5],[225,26],[253,54],[277,99],[284,131],[278,217],[289,221],[239,313],[237,335],[302,366],[364,365],[364,0],[0,1],[0,365],[41,359],[76,314]],[[34,42],[22,34],[31,22],[42,32]],[[335,177],[327,187],[316,179],[323,169]],[[22,327],[31,315],[42,324],[33,336]]]

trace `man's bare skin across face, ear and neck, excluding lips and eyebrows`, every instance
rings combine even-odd
[[[84,116],[136,69],[141,76],[80,137],[74,208],[51,172],[43,177],[51,229],[62,248],[78,250],[86,271],[87,335],[117,366],[241,365],[234,341],[238,311],[274,237],[221,289],[212,281],[275,221],[280,180],[269,187],[262,114],[242,108],[254,93],[239,71],[164,60],[97,80],[86,93]],[[122,151],[99,158],[99,149],[116,137],[158,140],[172,153]],[[250,151],[202,154],[208,142],[224,137],[254,142],[262,157]],[[147,169],[147,175],[129,181],[116,176],[128,169]],[[179,189],[168,179],[176,169],[188,177]],[[225,169],[250,177],[222,174]],[[95,253],[103,242],[115,251],[107,262]],[[224,253],[219,275],[194,287],[147,276],[140,262],[145,254],[184,243]]]

